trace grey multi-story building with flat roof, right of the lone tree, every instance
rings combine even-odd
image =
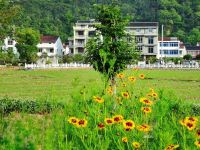
[[[144,60],[156,57],[158,43],[158,22],[130,22],[126,31],[135,37],[136,49]]]

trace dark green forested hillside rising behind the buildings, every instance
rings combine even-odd
[[[16,0],[22,8],[17,26],[33,27],[41,34],[60,35],[67,40],[77,20],[95,18],[95,4],[110,0]],[[165,35],[186,43],[200,41],[200,0],[119,0],[124,15],[132,21],[158,21]]]

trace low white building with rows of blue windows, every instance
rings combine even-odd
[[[164,57],[183,57],[184,55],[186,55],[186,48],[176,37],[164,37],[163,41],[162,38],[159,38],[156,56],[158,59]]]

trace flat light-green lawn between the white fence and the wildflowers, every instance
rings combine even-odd
[[[132,70],[126,72],[131,74]],[[165,89],[180,99],[200,100],[198,70],[139,70],[139,73],[144,73],[147,79],[135,85],[138,89],[145,84],[155,89]],[[102,88],[100,74],[90,69],[0,70],[1,97],[63,101],[69,100],[84,86],[94,91]]]

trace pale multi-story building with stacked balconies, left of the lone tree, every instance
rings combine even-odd
[[[95,20],[77,21],[73,26],[74,37],[69,38],[69,49],[72,54],[82,54],[89,38],[95,35]]]

